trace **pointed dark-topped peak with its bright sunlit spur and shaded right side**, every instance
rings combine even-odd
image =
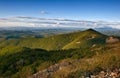
[[[95,47],[95,46],[103,45],[105,44],[106,37],[107,36],[95,30],[89,29],[81,32],[77,38],[75,38],[69,44],[65,45],[63,49]]]

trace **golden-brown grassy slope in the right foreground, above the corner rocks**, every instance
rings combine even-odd
[[[98,73],[107,69],[120,68],[120,42],[115,44],[107,44],[106,50],[93,56],[92,58],[83,58],[78,62],[73,62],[72,67],[65,67],[56,71],[53,78],[81,78],[85,72],[91,71]],[[100,51],[100,50],[99,50]],[[63,60],[63,62],[71,62],[72,60]]]

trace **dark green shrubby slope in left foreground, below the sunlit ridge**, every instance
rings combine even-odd
[[[0,76],[24,78],[63,59],[90,58],[93,55],[95,52],[82,48],[46,51],[10,46],[2,48],[0,52]]]

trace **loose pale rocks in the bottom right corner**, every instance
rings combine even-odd
[[[106,69],[100,72],[87,71],[80,78],[120,78],[120,68]]]

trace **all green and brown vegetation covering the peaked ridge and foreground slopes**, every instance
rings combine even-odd
[[[84,71],[119,67],[120,43],[105,44],[106,38],[89,29],[46,38],[5,40],[0,43],[0,78],[27,78],[64,60],[80,62],[57,70],[53,78],[78,78]]]

